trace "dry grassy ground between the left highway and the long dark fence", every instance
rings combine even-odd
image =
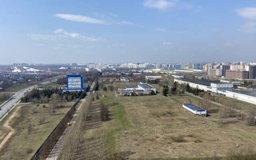
[[[36,104],[19,105],[18,110],[16,108],[16,111],[10,112],[10,116],[15,114],[8,124],[14,129],[14,134],[4,145],[4,152],[0,153],[0,159],[25,160],[31,158],[73,104],[74,102],[63,102],[62,105],[65,107],[55,108],[55,113],[52,115],[48,112],[48,108],[42,108],[42,104],[40,106],[36,106]],[[10,116],[7,116],[4,122]],[[40,118],[42,117],[44,117],[44,122],[41,124]],[[30,133],[28,133],[29,125],[32,128]]]

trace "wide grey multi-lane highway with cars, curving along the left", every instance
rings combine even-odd
[[[57,80],[57,79],[55,79],[55,80]],[[50,83],[50,81],[42,82],[40,84],[44,85],[44,84],[48,84],[48,83]],[[14,108],[14,106],[16,106],[16,104],[19,102],[20,98],[22,96],[24,96],[24,94],[26,92],[30,91],[31,89],[33,89],[35,87],[37,87],[37,84],[35,84],[33,86],[30,86],[28,88],[25,88],[23,90],[20,90],[19,92],[16,92],[14,94],[13,98],[9,102],[7,102],[6,104],[0,106],[0,108],[1,108],[1,110],[0,110],[0,117],[1,117],[0,122],[3,120],[3,118],[5,116],[8,115],[8,109],[10,109],[10,111],[11,111]]]

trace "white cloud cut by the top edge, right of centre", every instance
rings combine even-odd
[[[167,10],[168,8],[173,7],[176,4],[167,0],[146,0],[144,1],[143,5],[148,8]]]

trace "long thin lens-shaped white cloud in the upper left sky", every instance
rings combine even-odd
[[[76,22],[85,22],[85,23],[93,23],[93,24],[108,24],[106,21],[98,20],[95,18],[91,18],[88,16],[80,16],[73,14],[54,14],[58,18],[63,18],[66,20],[76,21]]]

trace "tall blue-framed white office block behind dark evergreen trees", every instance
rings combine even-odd
[[[81,74],[67,74],[67,85],[62,89],[62,92],[74,92],[84,91],[87,86],[84,87],[83,75]]]

